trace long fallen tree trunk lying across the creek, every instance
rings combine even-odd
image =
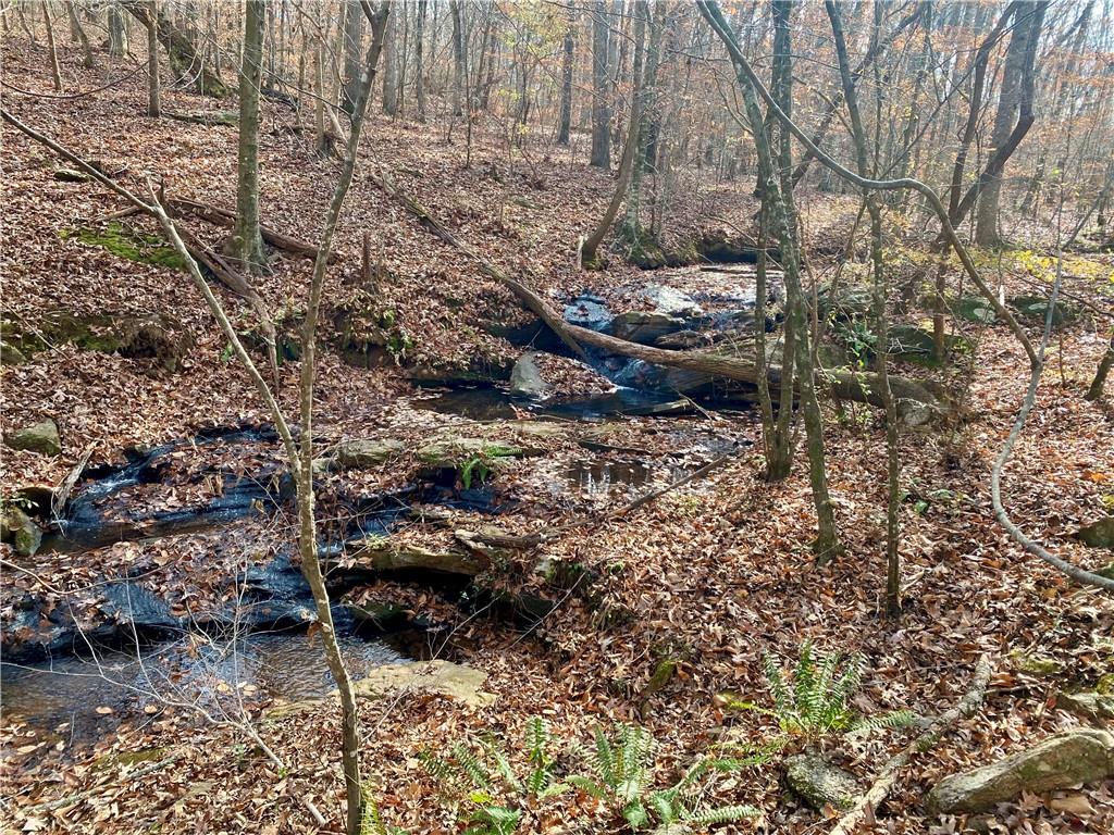
[[[541,296],[518,279],[511,278],[499,269],[499,267],[463,244],[437,218],[430,215],[418,200],[391,183],[382,171],[373,171],[368,176],[388,196],[408,209],[430,233],[468,255],[477,263],[485,275],[499,282],[518,296],[530,311],[553,328],[566,345],[573,348],[577,356],[582,358],[586,357],[583,345],[588,344],[613,354],[632,356],[636,360],[653,363],[654,365],[696,371],[726,380],[750,383],[751,385],[758,383],[758,369],[754,363],[739,356],[712,351],[672,351],[651,347],[569,324]],[[778,366],[768,367],[768,377],[772,391],[780,389],[781,374],[781,369]],[[882,405],[881,387],[878,375],[873,372],[825,371],[824,374],[830,377],[831,391],[837,397],[869,403],[874,406]],[[898,416],[907,425],[922,425],[946,411],[945,404],[940,399],[924,384],[908,377],[892,375],[889,382],[890,390],[897,401]]]

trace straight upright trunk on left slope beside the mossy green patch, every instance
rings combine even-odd
[[[263,78],[265,0],[246,0],[240,68],[240,148],[236,157],[236,225],[229,250],[248,273],[266,266],[260,235],[260,82]]]

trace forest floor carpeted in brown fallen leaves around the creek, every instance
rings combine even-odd
[[[8,84],[49,89],[41,50],[8,39],[3,59]],[[68,51],[62,62],[66,76],[79,79],[85,89],[127,71],[124,66],[99,75],[84,70]],[[235,130],[143,117],[145,91],[136,78],[86,97],[6,92],[4,98],[17,117],[82,156],[114,170],[126,167],[118,180],[136,191],[149,176],[164,183],[170,196],[234,204]],[[166,95],[168,110],[209,106],[185,94]],[[313,240],[339,164],[314,155],[312,131],[292,127],[290,110],[265,104],[265,222]],[[586,138],[578,136],[571,153],[545,150],[541,144],[519,149],[500,139],[499,127],[497,121],[481,126],[466,168],[460,126],[447,143],[443,129],[377,118],[365,135],[361,166],[389,171],[460,238],[555,303],[584,291],[609,293],[612,301],[624,287],[646,284],[641,271],[617,256],[599,274],[575,266],[577,237],[602,214],[613,187],[606,174],[583,164]],[[28,485],[58,483],[90,443],[96,444],[95,463],[119,462],[129,446],[189,438],[206,428],[268,422],[246,374],[223,355],[225,340],[183,273],[125,261],[66,234],[96,225],[95,218],[123,205],[95,184],[56,179],[58,167],[66,166],[4,126],[0,269],[6,328],[41,327],[57,311],[167,313],[188,332],[193,346],[174,372],[150,360],[80,350],[72,343],[4,366],[4,432],[49,416],[62,438],[62,454],[55,458],[3,450],[0,485],[6,497]],[[1108,596],[1081,589],[1023,553],[994,521],[990,465],[1028,376],[1024,352],[1006,327],[967,325],[971,354],[955,367],[932,372],[954,391],[965,391],[960,419],[901,434],[902,483],[909,493],[901,514],[906,587],[902,617],[888,620],[885,429],[877,412],[850,404],[827,410],[829,478],[847,552],[822,569],[810,551],[814,514],[803,455],[789,479],[763,481],[760,428],[745,410],[608,422],[607,444],[637,451],[651,485],[691,472],[724,450],[736,451],[704,478],[613,518],[608,511],[645,485],[595,490],[579,477],[566,475],[585,458],[580,442],[589,434],[600,436],[598,424],[560,422],[559,431],[539,436],[515,421],[478,423],[426,407],[407,370],[451,376],[453,370],[473,369],[477,357],[512,362],[521,348],[478,323],[516,305],[507,291],[430,236],[360,170],[336,236],[340,259],[330,271],[326,297],[339,304],[355,293],[362,236],[370,232],[373,259],[381,267],[375,308],[392,311],[409,342],[398,366],[355,367],[338,353],[324,353],[316,404],[322,446],[373,436],[412,449],[444,432],[522,445],[528,439],[536,454],[500,469],[492,479],[499,501],[518,509],[495,521],[506,532],[525,533],[592,520],[518,554],[508,571],[516,578],[515,590],[530,586],[543,560],[576,566],[590,578],[590,588],[574,583],[559,607],[528,631],[507,618],[465,613],[451,596],[417,582],[379,580],[356,592],[361,599],[401,601],[413,617],[450,625],[452,660],[481,670],[482,691],[490,695],[455,699],[418,688],[362,703],[368,744],[361,757],[384,819],[412,831],[453,831],[455,814],[420,766],[421,752],[486,731],[518,739],[526,720],[539,713],[568,740],[588,740],[597,723],[642,724],[658,741],[663,785],[716,743],[761,746],[776,735],[774,724],[759,713],[732,711],[732,700],[723,694],[769,705],[763,657],[790,664],[807,639],[824,650],[863,654],[868,671],[854,706],[868,715],[893,709],[938,715],[969,687],[980,657],[993,665],[981,709],[902,772],[878,813],[877,832],[944,833],[974,825],[928,815],[924,794],[947,774],[1078,724],[1057,707],[1056,698],[1093,688],[1114,671],[1114,606]],[[754,204],[749,184],[703,179],[693,173],[685,199],[671,202],[665,222],[671,234],[684,238],[705,228],[750,228]],[[810,271],[823,281],[834,272],[837,254],[851,234],[856,200],[807,193],[801,210]],[[146,220],[127,223],[156,233]],[[213,243],[224,234],[199,222],[193,228]],[[1020,224],[1012,228],[1029,232]],[[1047,229],[1034,227],[1037,233],[1046,236]],[[1047,246],[1047,237],[1039,243]],[[895,276],[935,272],[926,266],[929,244],[911,234],[896,239]],[[1052,275],[1047,249],[983,257],[1007,294],[1045,286]],[[1028,536],[1089,569],[1108,562],[1110,553],[1084,547],[1073,534],[1108,512],[1114,415],[1108,395],[1105,403],[1087,403],[1082,394],[1106,344],[1112,271],[1108,254],[1078,256],[1069,264],[1066,288],[1084,312],[1055,333],[1037,405],[1006,468],[1003,491]],[[273,310],[294,310],[309,272],[304,259],[276,257],[258,289]],[[225,303],[246,328],[248,307],[228,294]],[[917,323],[925,313],[913,310],[906,316]],[[1030,335],[1038,337],[1035,324]],[[281,400],[293,411],[296,363],[283,365],[281,374]],[[587,375],[569,383],[580,392],[593,385]],[[626,459],[613,451],[604,460]],[[407,453],[378,468],[333,473],[323,488],[324,501],[399,487],[418,468]],[[153,501],[193,500],[183,492]],[[405,536],[434,547],[447,531],[486,521],[467,510],[453,511],[448,525],[414,524]],[[9,561],[2,613],[8,621],[12,601],[28,592],[43,599],[91,599],[105,578],[125,572],[140,576],[176,605],[213,606],[228,593],[215,578],[237,570],[245,549],[252,549],[248,561],[261,561],[292,541],[293,531],[293,520],[278,512],[266,522],[246,523],[235,538],[217,530],[183,533],[155,546],[127,542],[45,553],[21,562],[23,572],[13,572]],[[195,568],[183,570],[184,564]],[[664,681],[654,675],[662,660],[676,662],[675,674]],[[309,833],[320,831],[307,812],[305,802],[311,800],[331,831],[340,831],[338,710],[328,703],[267,714],[270,707],[267,699],[256,699],[247,715],[283,768],[268,762],[240,728],[198,723],[180,706],[147,705],[79,747],[70,746],[65,728],[47,731],[6,714],[0,728],[4,826],[70,833]],[[864,739],[833,739],[828,747],[866,788],[910,734],[886,730]],[[138,762],[165,765],[147,774],[139,768],[137,776],[137,759],[121,756],[129,752],[144,753]],[[984,816],[979,825],[990,832],[1110,832],[1112,795],[1114,785],[1107,783],[1055,797],[1025,796]],[[59,802],[71,796],[78,796],[74,803]],[[753,822],[732,825],[741,832],[819,833],[833,824],[831,809],[817,813],[788,795],[778,757],[721,780],[715,799],[761,811]],[[614,825],[595,800],[576,794],[538,805],[528,818],[529,828],[537,831],[594,826],[603,832]]]

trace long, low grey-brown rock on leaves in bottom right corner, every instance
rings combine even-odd
[[[929,792],[932,814],[984,812],[1023,792],[1043,794],[1114,775],[1114,736],[1076,728],[997,763],[945,777]]]

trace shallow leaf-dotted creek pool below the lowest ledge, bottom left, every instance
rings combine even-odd
[[[379,641],[351,636],[340,641],[356,678],[408,660]],[[26,721],[63,740],[102,736],[125,718],[166,701],[235,713],[240,696],[245,701],[260,696],[305,699],[332,688],[321,641],[304,632],[256,633],[235,642],[190,635],[139,654],[114,650],[98,652],[96,659],[67,656],[27,667],[0,665],[4,723]]]

